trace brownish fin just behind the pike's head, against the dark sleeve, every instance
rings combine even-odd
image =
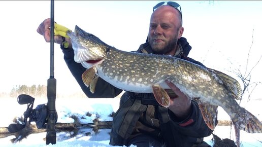
[[[94,79],[95,73],[97,72],[95,67],[90,67],[89,69],[86,69],[83,74],[82,74],[82,80],[85,84],[85,86],[89,87],[89,85],[91,84],[91,82]],[[96,84],[96,82],[95,82]],[[91,89],[90,89],[91,91]]]

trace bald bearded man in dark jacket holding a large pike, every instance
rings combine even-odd
[[[151,15],[148,42],[142,44],[138,53],[165,54],[201,64],[187,57],[191,47],[182,38],[181,8],[175,2],[157,4]],[[50,42],[50,19],[44,20],[37,31]],[[64,43],[61,36],[55,36],[56,43]],[[96,84],[94,94],[90,93],[81,75],[86,70],[74,61],[70,40],[69,47],[61,49],[64,60],[73,76],[89,98],[115,97],[122,90],[103,79]],[[133,93],[126,91],[120,100],[120,107],[113,119],[110,144],[137,146],[210,146],[203,137],[212,133],[205,124],[198,104],[182,93],[174,84],[166,81],[175,94],[170,94],[170,106],[160,106],[152,93]],[[99,90],[97,90],[99,89]],[[170,92],[170,91],[169,91]],[[217,124],[217,122],[216,122]]]

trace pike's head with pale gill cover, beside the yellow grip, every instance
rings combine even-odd
[[[68,31],[67,34],[71,38],[75,53],[74,60],[77,63],[87,64],[89,67],[105,58],[106,50],[110,46],[102,42],[95,35],[84,31],[77,25],[74,32]]]

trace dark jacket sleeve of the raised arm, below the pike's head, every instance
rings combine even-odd
[[[113,98],[119,95],[122,90],[114,87],[113,85],[107,83],[103,79],[99,78],[95,86],[95,92],[92,94],[89,87],[86,87],[82,81],[82,73],[86,70],[81,63],[77,63],[74,60],[74,50],[73,49],[62,49],[64,54],[64,61],[67,63],[69,70],[75,77],[82,91],[89,98]]]

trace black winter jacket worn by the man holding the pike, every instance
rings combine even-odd
[[[182,47],[182,52],[176,57],[200,64],[187,55],[191,50],[185,38],[178,40]],[[72,49],[63,50],[64,60],[67,63],[72,75],[77,80],[83,92],[89,98],[113,98],[119,95],[122,90],[99,78],[95,92],[89,91],[81,78],[82,73],[86,70],[80,63],[74,61],[74,52]],[[152,53],[148,43],[142,44],[137,52]],[[217,123],[216,123],[217,124]],[[178,120],[168,108],[158,105],[152,93],[141,94],[125,92],[120,100],[120,107],[113,118],[111,131],[111,145],[129,145],[128,141],[137,135],[147,134],[167,146],[192,146],[203,140],[203,137],[212,133],[205,124],[198,104],[192,100],[191,113],[185,120]]]

